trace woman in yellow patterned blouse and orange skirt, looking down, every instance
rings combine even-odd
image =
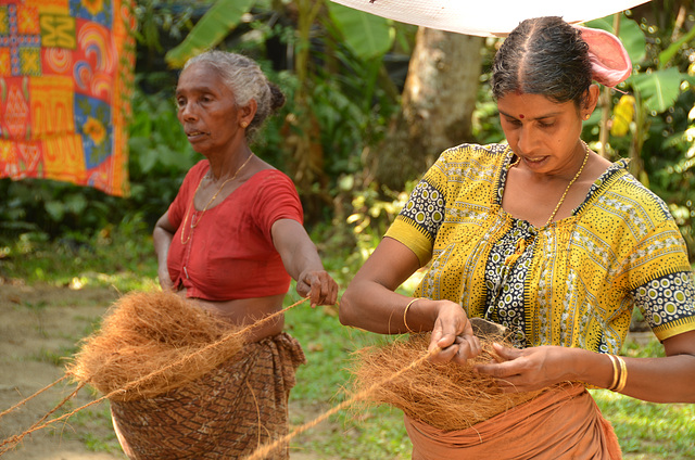
[[[414,459],[620,458],[585,385],[695,401],[695,289],[679,229],[626,162],[580,139],[598,98],[592,76],[624,79],[629,60],[628,72],[605,67],[624,55],[615,37],[559,17],[522,22],[493,68],[508,144],[445,151],[346,289],[344,324],[432,331],[440,361],[480,353],[469,318],[506,325],[515,347],[497,346],[502,362],[477,367],[505,392],[581,383],[469,430],[406,417]],[[427,264],[415,298],[394,292]],[[635,306],[665,358],[617,356]]]

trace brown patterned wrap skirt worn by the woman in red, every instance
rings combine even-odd
[[[241,459],[288,433],[288,396],[306,362],[287,333],[245,345],[228,362],[162,396],[111,401],[132,460]],[[274,458],[289,458],[289,446]]]

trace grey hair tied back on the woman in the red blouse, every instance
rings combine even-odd
[[[252,99],[256,101],[256,114],[247,128],[247,137],[261,128],[265,119],[285,105],[285,94],[265,76],[258,64],[242,54],[211,50],[191,58],[184,69],[192,64],[206,64],[213,67],[235,95],[239,107],[247,105]]]

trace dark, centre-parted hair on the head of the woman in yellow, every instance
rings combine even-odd
[[[541,94],[580,108],[592,82],[589,46],[561,17],[526,20],[502,43],[492,74],[497,100],[510,92]]]

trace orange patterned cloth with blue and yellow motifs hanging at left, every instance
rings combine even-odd
[[[0,0],[0,177],[128,194],[131,0]]]

